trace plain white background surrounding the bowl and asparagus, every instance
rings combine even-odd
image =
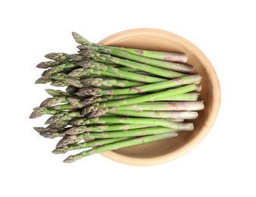
[[[1,196],[256,196],[254,1],[2,1]],[[34,85],[49,52],[76,52],[71,32],[92,42],[134,28],[167,30],[197,45],[220,79],[220,113],[182,158],[152,167],[93,155],[64,164],[28,119],[47,98]]]

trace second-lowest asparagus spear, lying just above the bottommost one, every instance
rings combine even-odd
[[[58,149],[53,150],[52,153],[54,153],[54,154],[63,154],[63,153],[66,153],[66,152],[72,151],[72,150],[79,150],[79,149],[85,149],[85,148],[88,148],[88,147],[106,145],[106,144],[110,144],[112,142],[120,142],[120,141],[123,141],[125,139],[131,139],[131,137],[96,139],[96,140],[93,140],[93,141],[90,141],[90,142],[83,142],[83,143],[73,144],[73,145],[65,145],[65,146],[62,146]]]

